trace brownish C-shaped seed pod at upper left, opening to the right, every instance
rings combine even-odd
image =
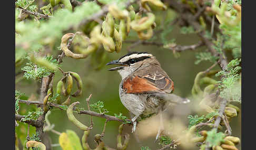
[[[70,51],[68,48],[67,48],[67,42],[68,42],[68,39],[73,37],[75,34],[73,33],[68,33],[68,34],[65,34],[62,39],[61,39],[61,50],[65,53],[65,55],[67,57],[72,57],[72,58],[75,58],[75,59],[81,59],[81,58],[86,58],[88,56],[88,53],[83,53],[83,54],[77,54],[77,53],[73,53],[72,51]]]

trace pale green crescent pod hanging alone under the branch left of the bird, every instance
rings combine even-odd
[[[82,124],[80,121],[78,121],[78,120],[75,118],[74,114],[73,114],[73,107],[74,107],[74,105],[76,105],[76,104],[80,104],[80,102],[74,102],[74,103],[72,103],[70,106],[68,106],[68,108],[67,108],[67,117],[68,117],[68,120],[70,120],[71,122],[73,122],[73,123],[74,123],[77,127],[79,127],[81,130],[87,131],[87,130],[89,130],[89,128],[88,128],[86,125]]]

